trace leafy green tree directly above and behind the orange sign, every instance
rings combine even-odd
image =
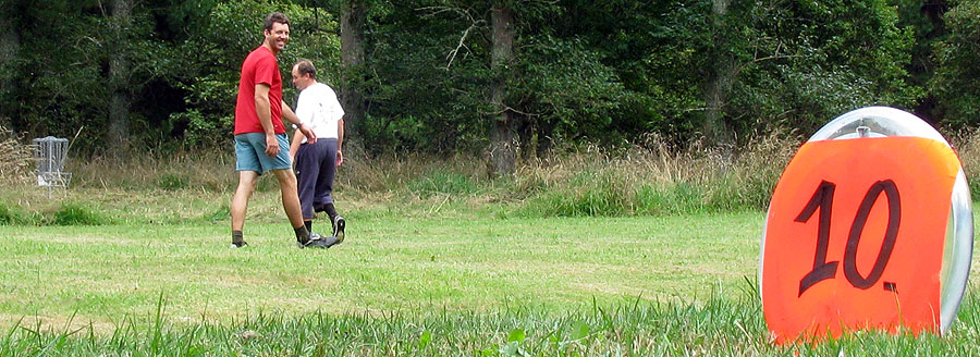
[[[781,125],[812,132],[871,104],[910,108],[912,32],[886,1],[742,3],[731,33],[737,77],[726,115],[737,133]]]

